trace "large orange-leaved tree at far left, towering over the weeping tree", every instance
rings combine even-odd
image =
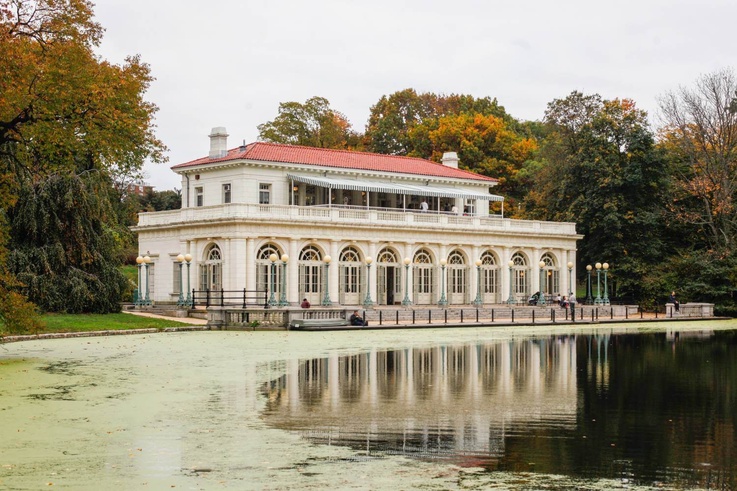
[[[166,148],[154,134],[157,107],[144,100],[152,80],[149,67],[138,57],[129,57],[122,66],[98,57],[94,49],[102,27],[93,17],[92,4],[86,0],[0,0],[0,328],[4,331],[22,331],[36,322],[32,304],[21,295],[29,286],[7,263],[8,213],[31,211],[27,203],[19,202],[21,196],[30,199],[33,194],[28,190],[47,176],[75,174],[78,169],[113,175],[140,169],[145,160],[165,160]],[[14,247],[20,245],[15,237],[13,241]],[[66,245],[60,244],[60,250]]]

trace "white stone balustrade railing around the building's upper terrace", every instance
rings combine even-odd
[[[396,208],[366,208],[359,206],[324,205],[259,205],[256,203],[228,203],[225,205],[182,208],[181,210],[139,213],[139,227],[180,225],[222,219],[284,219],[298,222],[346,222],[362,225],[410,226],[451,229],[483,227],[492,230],[515,230],[541,233],[576,233],[576,224],[570,222],[540,222],[517,220],[497,215],[473,216],[443,211],[419,211]]]

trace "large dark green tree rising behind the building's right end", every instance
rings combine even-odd
[[[617,293],[643,297],[640,279],[668,250],[668,169],[647,114],[629,99],[573,92],[548,104],[531,219],[576,222],[578,271],[607,261]]]

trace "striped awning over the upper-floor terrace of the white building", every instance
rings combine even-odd
[[[419,186],[407,183],[390,183],[374,180],[343,179],[341,177],[305,176],[287,174],[287,178],[298,183],[310,184],[332,189],[352,189],[354,191],[370,191],[375,193],[412,194],[413,196],[432,196],[441,198],[486,199],[487,201],[504,201],[496,194],[475,193],[465,189],[447,186]]]

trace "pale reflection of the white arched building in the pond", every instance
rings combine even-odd
[[[536,425],[576,425],[575,336],[371,350],[286,369],[262,386],[266,420],[312,442],[475,465]]]

